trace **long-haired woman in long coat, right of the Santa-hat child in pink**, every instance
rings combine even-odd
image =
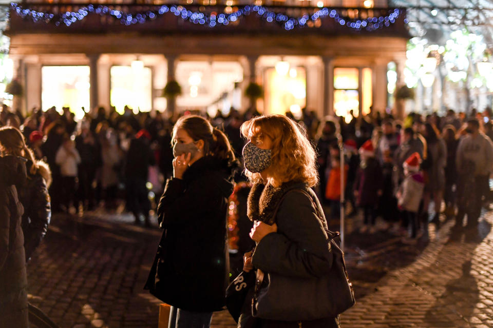
[[[445,166],[447,165],[447,146],[440,137],[437,127],[430,123],[424,126],[424,137],[427,144],[427,160],[422,167],[425,171],[425,191],[423,193],[423,212],[428,217],[428,207],[431,198],[434,202],[432,220],[439,222],[442,206],[443,191],[445,189]],[[425,222],[426,223],[426,222]]]

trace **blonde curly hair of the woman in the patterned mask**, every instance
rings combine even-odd
[[[310,187],[318,183],[316,151],[306,132],[284,115],[265,115],[252,118],[241,125],[241,134],[249,140],[268,136],[272,140],[271,165],[267,169],[276,185],[300,181]],[[245,170],[254,183],[262,183],[259,173]]]

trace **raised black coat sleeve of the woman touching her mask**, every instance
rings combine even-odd
[[[188,186],[184,180],[168,179],[158,205],[159,225],[164,228],[200,220],[203,214],[216,210],[222,198],[210,178],[198,178]]]

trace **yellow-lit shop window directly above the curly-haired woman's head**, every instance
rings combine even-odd
[[[287,63],[280,61],[279,63]],[[278,64],[279,64],[278,63]],[[288,64],[289,65],[289,64]],[[266,109],[264,114],[301,116],[307,105],[307,78],[305,68],[276,65],[266,71]]]

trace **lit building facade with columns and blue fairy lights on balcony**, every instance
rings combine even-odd
[[[371,0],[158,1],[13,5],[6,34],[26,91],[17,106],[70,106],[78,117],[97,106],[165,111],[162,89],[177,80],[177,110],[214,114],[247,109],[243,90],[254,81],[263,113],[345,116],[388,106],[389,63],[402,83],[404,9]]]

